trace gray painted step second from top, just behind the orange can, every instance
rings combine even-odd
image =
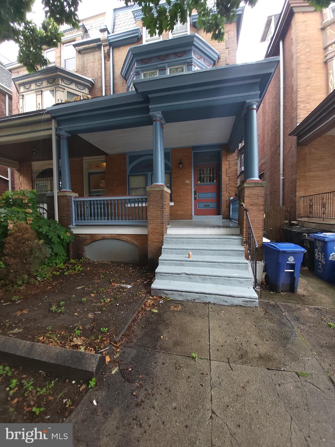
[[[162,247],[162,254],[176,254],[183,255],[192,252],[196,256],[234,256],[244,257],[244,248],[239,245],[187,245],[185,247],[180,245],[166,245]]]

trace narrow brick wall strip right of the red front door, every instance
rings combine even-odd
[[[222,219],[229,219],[229,199],[237,192],[237,151],[228,152],[222,148]]]

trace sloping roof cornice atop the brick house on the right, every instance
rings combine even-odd
[[[310,13],[313,11],[315,11],[315,8],[306,4],[305,0],[286,0],[277,21],[275,32],[268,45],[265,57],[279,55],[279,42],[285,38],[295,13]]]

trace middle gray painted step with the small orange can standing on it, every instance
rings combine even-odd
[[[187,267],[208,267],[210,269],[234,269],[234,270],[248,270],[248,261],[245,257],[230,257],[230,256],[193,256],[188,257],[188,254],[162,254],[159,257],[160,266],[179,266]]]

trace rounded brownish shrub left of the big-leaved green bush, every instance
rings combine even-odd
[[[8,232],[3,255],[6,279],[11,283],[24,283],[45,263],[50,249],[38,240],[27,223],[19,222]]]

